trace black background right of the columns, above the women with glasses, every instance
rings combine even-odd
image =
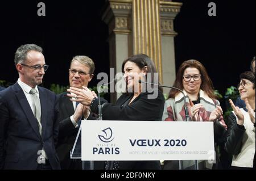
[[[237,86],[239,75],[250,70],[255,56],[255,1],[179,1],[175,19],[176,69],[184,60],[196,59],[207,68],[215,89],[225,93]],[[217,16],[208,16],[215,2]]]

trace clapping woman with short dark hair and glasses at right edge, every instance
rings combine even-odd
[[[233,155],[232,169],[255,170],[255,74],[240,75],[238,90],[246,107],[238,108],[229,100],[233,112],[228,119],[225,150]]]

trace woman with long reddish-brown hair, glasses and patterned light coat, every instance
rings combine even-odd
[[[222,135],[218,133],[223,133],[227,127],[222,117],[220,103],[214,95],[212,81],[203,64],[196,60],[184,61],[177,71],[173,86],[183,90],[191,121],[214,121],[214,141],[219,144],[223,143]],[[181,92],[171,89],[164,106],[162,120],[186,120],[184,97]],[[184,169],[194,169],[194,164],[194,161],[183,161]],[[164,165],[164,169],[179,168],[178,163],[174,161],[166,161]],[[212,164],[199,161],[199,169],[212,169]]]

